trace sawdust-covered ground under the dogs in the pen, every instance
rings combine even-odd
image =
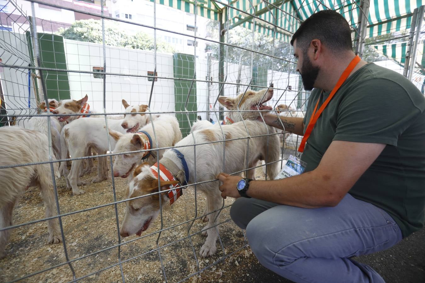
[[[81,179],[91,181],[95,176],[96,172],[86,174]],[[261,168],[256,169],[256,178],[264,179]],[[125,199],[126,186],[126,179],[115,178],[117,200]],[[75,276],[79,278],[90,275],[85,277],[83,282],[120,282],[122,281],[120,266],[116,264],[119,261],[119,250],[118,247],[114,247],[118,245],[115,205],[107,205],[114,202],[112,180],[110,178],[100,183],[91,183],[82,186],[82,190],[85,194],[72,196],[71,189],[66,188],[64,178],[57,180],[60,213],[72,213],[98,207],[62,217],[68,257],[70,260],[81,258],[71,263]],[[196,199],[196,211],[199,217],[204,211],[205,199],[201,193],[197,194]],[[131,236],[122,239],[127,242],[121,246],[120,251],[125,281],[165,281],[161,268],[162,261],[167,281],[178,282],[218,261],[224,255],[240,249],[200,274],[188,278],[187,281],[261,282],[261,278],[255,278],[255,272],[250,272],[261,265],[251,249],[244,247],[246,246],[244,232],[229,219],[230,207],[226,206],[231,205],[233,200],[227,198],[224,201],[225,208],[218,219],[223,224],[220,225],[220,241],[217,241],[216,254],[208,258],[200,258],[198,254],[205,237],[199,232],[206,223],[201,219],[190,221],[195,217],[195,193],[191,188],[185,190],[183,196],[172,207],[163,210],[162,226],[161,216],[159,216],[150,229],[142,234],[143,238]],[[118,223],[120,223],[124,216],[125,203],[117,204],[116,210]],[[39,190],[36,187],[29,188],[15,207],[14,224],[43,217],[44,203],[39,196]],[[191,224],[192,227],[189,230]],[[162,231],[159,235],[157,231],[161,230],[161,227],[171,228]],[[188,237],[189,234],[194,233],[196,234]],[[70,266],[63,264],[66,261],[63,244],[46,244],[47,235],[45,221],[14,229],[6,246],[6,257],[0,261],[0,282],[16,280],[57,265],[59,266],[54,269],[40,272],[21,282],[73,280]],[[177,242],[169,244],[175,241]],[[280,281],[278,277],[276,280],[276,282]]]

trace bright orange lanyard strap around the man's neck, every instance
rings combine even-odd
[[[320,117],[320,114],[322,114],[323,109],[325,109],[325,107],[329,104],[329,101],[331,101],[332,97],[334,97],[335,93],[339,90],[339,88],[344,83],[344,81],[346,81],[346,79],[348,78],[350,73],[354,70],[354,68],[357,66],[357,64],[360,62],[360,60],[361,59],[359,56],[356,56],[354,57],[353,60],[351,60],[350,64],[348,64],[348,67],[344,70],[344,72],[338,79],[337,84],[335,85],[331,93],[329,94],[329,97],[322,104],[322,106],[320,106],[319,111],[317,111],[316,113],[317,105],[319,105],[320,98],[317,99],[317,103],[316,103],[316,106],[314,106],[314,110],[313,110],[312,116],[310,117],[310,121],[307,126],[306,133],[304,134],[303,140],[301,140],[300,147],[298,148],[299,152],[302,153],[304,151],[304,147],[306,146],[306,141],[309,138],[310,134],[312,133],[314,125],[316,124],[317,119]]]

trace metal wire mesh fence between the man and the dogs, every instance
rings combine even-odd
[[[354,48],[366,35],[386,34],[367,17],[363,1],[134,2],[0,3],[2,148],[6,154],[13,148],[8,143],[22,146],[20,153],[0,164],[0,171],[14,175],[0,176],[4,184],[14,179],[25,183],[13,198],[0,201],[0,235],[6,239],[0,241],[0,252],[5,249],[2,281],[180,282],[246,248],[244,231],[229,218],[232,200],[213,198],[218,191],[215,175],[224,171],[269,179],[270,171],[278,170],[300,143],[294,134],[265,125],[260,130],[245,121],[253,112],[267,111],[261,110],[266,102],[275,114],[303,117],[309,92],[303,90],[288,39],[306,15],[325,8],[349,20]],[[358,24],[362,14],[369,21],[366,35]],[[387,25],[387,30],[410,28],[408,19]],[[391,36],[388,39],[396,35]],[[419,88],[422,71],[421,66],[414,69]],[[233,108],[221,100],[241,93]],[[249,94],[257,100],[247,106]],[[90,117],[79,119],[82,116]],[[170,116],[176,118],[181,137],[167,142],[174,128],[164,119]],[[240,126],[221,126],[227,116],[236,117],[233,120]],[[198,123],[201,128],[196,131],[199,120],[210,125],[204,128],[206,124]],[[212,124],[218,126],[210,133]],[[15,142],[5,132],[8,126],[37,129],[47,139]],[[145,127],[151,131],[144,140],[149,140],[150,148],[136,146],[140,138],[134,137],[135,132]],[[127,147],[119,149],[126,135]],[[235,156],[235,145],[243,154]],[[44,149],[37,151],[39,146]],[[134,180],[142,182],[138,178],[145,174],[133,177],[140,158],[146,155],[144,161],[154,165],[162,156],[172,159],[173,148],[185,153],[190,171],[180,199],[169,205],[164,193],[175,188],[161,191],[162,181],[155,190],[135,193],[139,187]],[[264,154],[254,158],[258,152]],[[35,159],[23,158],[25,154]],[[117,160],[132,156],[137,164],[120,171]],[[268,166],[257,163],[260,159]],[[34,177],[44,165],[47,185]],[[20,176],[18,172],[26,172],[20,168],[32,168],[34,175]],[[156,173],[160,179],[161,172]],[[143,207],[151,202],[156,215],[130,231],[125,217],[137,215],[141,208],[147,214]],[[136,207],[137,203],[144,206]],[[207,234],[207,240],[201,234]],[[214,235],[214,247],[208,246]],[[46,236],[53,245],[45,244]]]

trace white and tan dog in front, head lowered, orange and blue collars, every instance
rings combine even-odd
[[[207,202],[208,224],[204,228],[203,234],[207,235],[205,244],[201,247],[200,255],[207,257],[213,255],[216,251],[215,242],[217,240],[217,230],[213,227],[217,224],[215,221],[218,211],[221,207],[222,198],[221,192],[218,190],[218,181],[216,176],[222,171],[223,164],[223,142],[225,143],[225,163],[224,171],[232,174],[245,169],[245,163],[255,164],[258,158],[266,155],[267,151],[267,127],[259,121],[245,121],[246,128],[243,122],[233,123],[232,125],[223,125],[221,128],[224,131],[222,135],[219,127],[210,127],[208,129],[200,129],[189,134],[176,144],[178,151],[184,156],[187,170],[184,169],[184,161],[178,156],[174,149],[169,149],[164,152],[162,159],[159,161],[165,166],[172,179],[168,181],[161,180],[161,191],[168,190],[170,185],[194,184],[195,182],[204,182],[191,187],[204,193]],[[246,129],[249,133],[246,132]],[[247,143],[246,138],[250,136],[249,152],[246,157]],[[254,137],[257,136],[257,137]],[[196,145],[196,156],[194,156],[193,144],[194,138]],[[241,139],[237,139],[241,138]],[[236,140],[233,140],[236,139]],[[273,150],[276,151],[276,150]],[[246,160],[247,158],[247,160]],[[196,168],[195,168],[196,160]],[[196,169],[196,179],[195,179]],[[153,170],[153,171],[152,171]],[[155,173],[154,173],[155,172]],[[167,173],[162,174],[167,175]],[[186,179],[188,175],[188,180]],[[141,235],[144,230],[147,230],[159,214],[159,193],[155,165],[152,168],[143,163],[134,171],[134,178],[129,183],[127,198],[140,197],[132,199],[126,203],[125,217],[121,224],[121,235],[127,237],[129,235]],[[174,189],[174,188],[173,188]],[[174,194],[176,196],[176,194]],[[161,192],[162,204],[169,204],[176,200],[175,197],[170,197],[169,193]],[[212,229],[210,229],[212,228]]]

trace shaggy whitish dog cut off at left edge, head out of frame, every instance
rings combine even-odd
[[[0,166],[48,161],[48,140],[45,134],[17,126],[0,128]],[[54,158],[54,157],[53,157]],[[54,171],[57,171],[57,163]],[[38,186],[46,205],[46,217],[56,216],[50,164],[0,169],[0,228],[12,225],[14,207],[30,186]],[[49,244],[61,241],[57,219],[47,221]],[[0,258],[9,241],[11,229],[0,231]]]

